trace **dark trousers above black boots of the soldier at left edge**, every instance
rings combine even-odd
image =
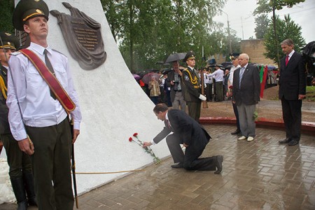
[[[10,179],[20,179],[23,174],[31,174],[31,157],[20,150],[12,134],[1,134],[0,139],[6,148]]]

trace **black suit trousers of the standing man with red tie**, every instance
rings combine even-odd
[[[286,138],[300,141],[302,121],[302,100],[281,99],[283,122],[286,127]]]

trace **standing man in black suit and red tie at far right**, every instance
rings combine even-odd
[[[286,126],[286,139],[279,143],[294,146],[299,144],[301,135],[302,99],[306,94],[305,67],[302,55],[293,50],[294,43],[290,38],[281,42],[281,48],[286,57],[281,59],[279,99]]]

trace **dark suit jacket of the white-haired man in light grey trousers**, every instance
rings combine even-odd
[[[241,78],[241,88],[239,88],[239,71],[233,73],[232,97],[239,106],[257,104],[260,101],[260,74],[257,66],[248,64]]]

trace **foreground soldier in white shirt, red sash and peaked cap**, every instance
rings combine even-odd
[[[74,203],[71,149],[81,113],[68,58],[48,45],[48,15],[42,0],[21,0],[15,7],[13,26],[27,32],[30,45],[10,57],[6,104],[13,137],[31,155],[38,209],[68,210]]]

